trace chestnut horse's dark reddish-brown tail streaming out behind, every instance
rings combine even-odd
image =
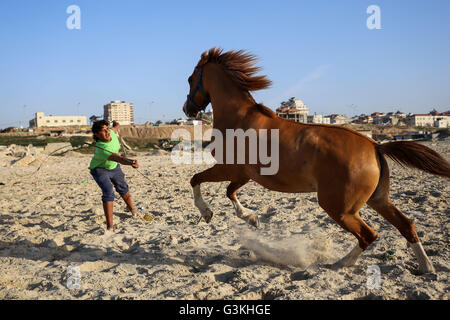
[[[396,141],[377,145],[381,154],[400,165],[450,178],[450,163],[436,151],[412,141]]]

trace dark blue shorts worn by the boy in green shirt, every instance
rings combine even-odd
[[[120,195],[128,192],[128,184],[125,182],[125,175],[120,169],[120,164],[114,170],[107,170],[103,168],[95,168],[91,170],[91,175],[95,182],[102,189],[102,201],[114,201],[114,188]]]

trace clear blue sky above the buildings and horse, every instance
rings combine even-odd
[[[260,58],[273,85],[253,96],[273,110],[296,97],[311,114],[447,111],[449,15],[448,0],[2,0],[0,128],[102,116],[112,100],[136,123],[185,118],[187,78],[213,46]]]

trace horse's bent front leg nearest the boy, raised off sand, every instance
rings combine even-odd
[[[191,186],[194,192],[194,204],[200,210],[202,217],[207,223],[211,221],[213,216],[212,210],[209,208],[208,204],[203,200],[200,184],[203,182],[221,182],[230,180],[227,176],[226,170],[223,167],[218,167],[215,165],[203,172],[195,174],[191,179]]]

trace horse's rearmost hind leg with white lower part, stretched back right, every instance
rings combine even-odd
[[[367,204],[389,221],[408,240],[419,262],[421,273],[433,273],[434,267],[420,243],[414,223],[398,210],[387,196],[370,199]]]

